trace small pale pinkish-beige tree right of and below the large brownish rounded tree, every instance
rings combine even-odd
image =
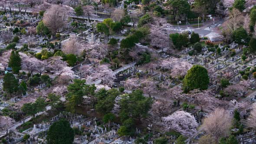
[[[62,51],[65,54],[74,54],[80,56],[83,49],[82,44],[77,37],[71,36],[66,42],[63,43]]]

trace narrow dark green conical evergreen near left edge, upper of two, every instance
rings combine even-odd
[[[19,73],[21,70],[21,59],[18,51],[11,52],[10,60],[8,66],[13,69],[13,73]]]

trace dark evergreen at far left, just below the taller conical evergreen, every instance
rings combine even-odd
[[[3,77],[3,91],[12,94],[18,90],[18,80],[10,72]]]

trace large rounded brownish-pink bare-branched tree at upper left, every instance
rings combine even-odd
[[[67,11],[61,5],[52,5],[43,15],[43,23],[55,34],[67,24]]]

